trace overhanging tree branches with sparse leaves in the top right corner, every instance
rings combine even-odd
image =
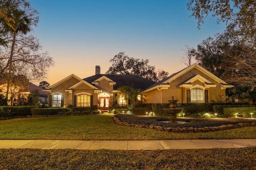
[[[198,20],[198,29],[209,14],[217,17],[217,23],[234,23],[237,33],[253,38],[256,42],[256,4],[254,0],[190,0],[187,4],[190,16]],[[245,37],[245,40],[247,39]]]

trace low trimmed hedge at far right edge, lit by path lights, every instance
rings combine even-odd
[[[225,117],[256,117],[255,107],[229,107],[223,108],[223,112]]]

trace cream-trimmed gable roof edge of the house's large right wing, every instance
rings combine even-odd
[[[182,74],[185,74],[186,72],[192,70],[193,68],[197,68],[198,70],[201,70],[204,74],[208,75],[209,77],[211,77],[212,79],[216,80],[217,82],[219,82],[221,84],[228,85],[228,83],[226,83],[222,79],[218,78],[217,76],[215,76],[214,74],[212,74],[211,72],[209,72],[208,70],[203,68],[202,66],[198,65],[197,63],[194,63],[191,66],[188,66],[188,67],[186,67],[186,68],[184,68],[184,69],[182,69],[182,70],[180,70],[180,71],[178,71],[178,72],[176,72],[176,73],[174,73],[174,74],[164,78],[163,80],[153,84],[152,86],[148,87],[145,91],[157,88],[158,86],[160,86],[162,84],[169,84],[170,82],[172,82],[176,78],[182,76]]]

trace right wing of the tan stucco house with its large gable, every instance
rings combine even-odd
[[[178,103],[225,102],[226,88],[232,87],[195,63],[153,84],[144,94],[147,103],[168,103],[171,96]]]

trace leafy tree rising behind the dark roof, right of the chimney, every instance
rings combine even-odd
[[[134,74],[147,78],[152,81],[158,81],[159,78],[167,77],[168,72],[162,71],[158,75],[155,66],[149,65],[149,60],[135,59],[128,57],[124,52],[115,55],[111,60],[112,66],[107,70],[106,74]]]

